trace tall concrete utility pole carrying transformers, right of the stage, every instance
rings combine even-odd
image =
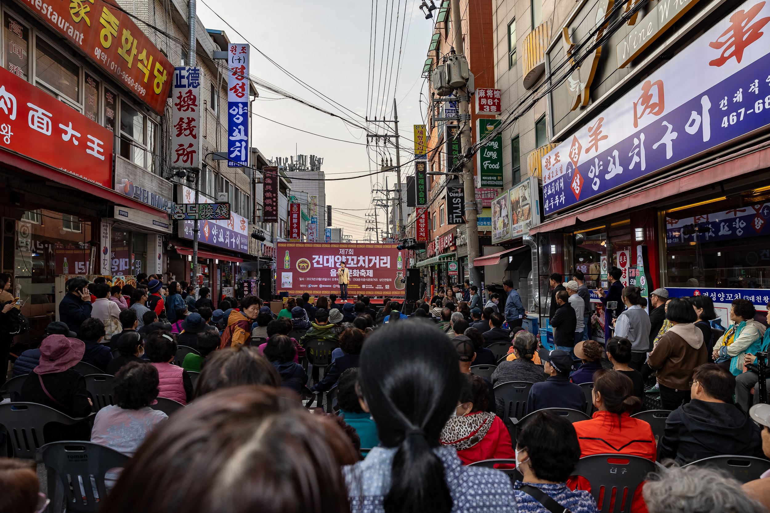
[[[451,0],[452,28],[454,28],[454,51],[464,57],[463,49],[463,25],[460,20],[460,0]],[[458,91],[457,112],[460,117],[460,146],[463,155],[467,154],[472,144],[470,135],[470,96],[467,83]],[[479,286],[481,284],[480,272],[474,266],[474,259],[480,256],[478,215],[476,211],[476,183],[472,162],[463,160],[463,182],[465,192],[465,222],[468,238],[468,271],[470,283]]]

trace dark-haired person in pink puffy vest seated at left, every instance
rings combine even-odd
[[[168,333],[153,331],[145,340],[145,355],[158,369],[158,397],[186,405],[187,401],[192,401],[192,381],[186,370],[171,363],[178,347]]]

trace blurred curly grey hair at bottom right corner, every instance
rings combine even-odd
[[[765,513],[765,507],[749,498],[727,472],[715,468],[672,467],[651,474],[642,493],[650,513]]]

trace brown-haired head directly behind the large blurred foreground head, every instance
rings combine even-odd
[[[259,350],[240,345],[228,351],[214,351],[206,358],[195,383],[195,396],[199,398],[219,388],[238,385],[277,387],[280,383],[276,368]]]

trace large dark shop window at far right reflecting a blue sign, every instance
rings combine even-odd
[[[770,188],[664,211],[665,286],[770,288]]]

